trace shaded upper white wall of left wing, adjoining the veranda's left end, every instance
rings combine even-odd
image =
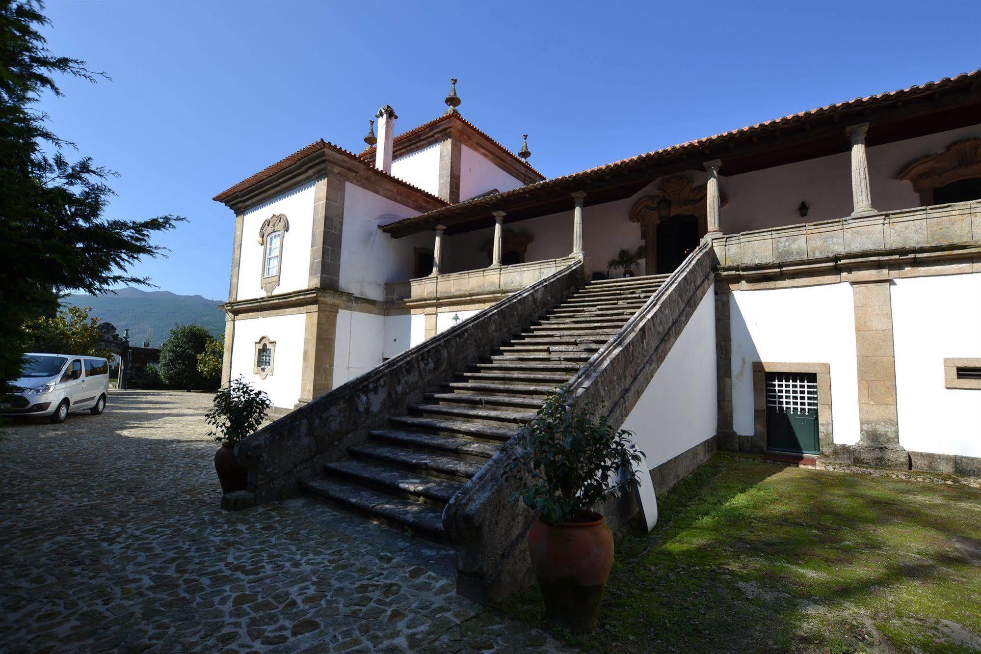
[[[385,283],[412,278],[413,248],[432,247],[435,233],[392,239],[379,225],[419,212],[371,191],[344,186],[344,225],[340,236],[340,290],[385,300]]]

